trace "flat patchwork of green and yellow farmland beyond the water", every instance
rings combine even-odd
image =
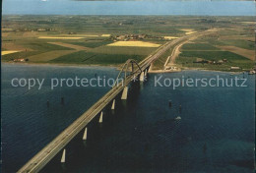
[[[253,17],[3,16],[2,24],[4,62],[24,58],[27,63],[120,66],[129,58],[143,60],[166,41],[219,29],[182,45],[176,65],[225,71],[254,66]],[[154,69],[162,69],[172,48]],[[198,59],[228,63],[193,63]]]

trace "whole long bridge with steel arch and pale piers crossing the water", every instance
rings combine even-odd
[[[37,154],[35,154],[28,163],[26,163],[18,172],[19,173],[34,173],[40,171],[58,152],[62,151],[61,162],[65,162],[66,156],[66,144],[78,135],[78,133],[84,131],[83,140],[87,140],[87,125],[99,115],[98,122],[102,122],[103,108],[111,104],[111,109],[115,108],[115,98],[122,92],[121,99],[127,99],[128,86],[138,78],[141,82],[145,80],[151,64],[169,48],[180,41],[184,41],[189,38],[183,36],[173,41],[166,42],[152,55],[148,56],[139,64],[135,60],[128,60],[123,65],[117,80],[105,95],[103,95],[96,103],[82,114],[77,120],[75,120],[68,128],[66,128],[59,136],[57,136],[52,142],[44,146]],[[124,73],[123,83],[117,83],[118,78]]]

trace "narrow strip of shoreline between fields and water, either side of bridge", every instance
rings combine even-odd
[[[122,65],[84,65],[84,64],[61,64],[61,63],[15,63],[15,62],[1,62],[3,64],[12,64],[12,65],[28,65],[28,66],[50,66],[50,67],[72,67],[72,68],[87,68],[87,67],[96,67],[96,68],[114,68],[115,70],[119,70]],[[223,72],[229,74],[242,74],[247,71],[239,71],[239,72],[228,72],[228,71],[220,71],[220,70],[208,70],[208,69],[201,69],[201,68],[183,68],[177,71],[166,71],[166,70],[151,70],[149,74],[163,74],[163,73],[179,73],[182,71],[206,71],[206,72]]]

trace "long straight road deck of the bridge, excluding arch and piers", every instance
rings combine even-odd
[[[147,57],[141,63],[139,63],[141,70],[144,71],[148,68],[153,61],[158,59],[170,46],[175,43],[186,39],[188,36],[184,36],[173,41],[169,41],[162,45],[153,55]],[[75,120],[68,128],[66,128],[59,136],[57,136],[51,143],[44,146],[32,159],[25,164],[18,172],[38,172],[42,169],[66,144],[68,144],[79,132],[81,132],[95,117],[96,115],[111,101],[115,96],[128,86],[133,80],[133,77],[138,77],[141,71],[139,69],[133,76],[128,76],[125,80],[125,84],[119,84],[116,87],[112,87],[105,95],[103,95],[89,110],[82,114],[77,120]]]

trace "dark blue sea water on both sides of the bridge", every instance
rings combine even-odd
[[[2,65],[3,173],[16,172],[45,144],[92,106],[109,87],[58,87],[50,78],[115,78],[113,68]],[[182,71],[163,78],[211,78],[223,72]],[[66,146],[66,163],[57,154],[41,172],[253,172],[255,77],[248,87],[130,87],[127,101],[104,110]],[[12,87],[13,78],[45,78],[42,89]],[[120,96],[120,95],[119,95]],[[60,102],[64,97],[64,105]],[[168,100],[172,106],[168,106]],[[46,101],[49,100],[49,107]],[[182,106],[181,110],[179,106]],[[180,116],[181,120],[174,118]]]

